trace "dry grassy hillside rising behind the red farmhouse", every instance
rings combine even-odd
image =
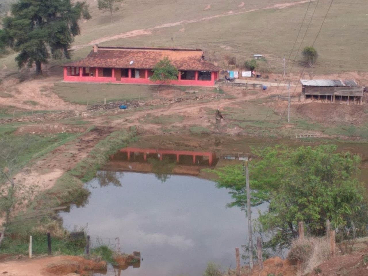
[[[213,61],[233,55],[237,64],[260,53],[266,56],[270,70],[278,72],[282,71],[283,57],[288,59],[291,53],[288,68],[291,69],[295,59],[292,71],[298,72],[302,70],[298,48],[312,45],[316,40],[318,63],[314,69],[307,68],[306,71],[328,74],[367,70],[366,0],[335,0],[330,10],[330,0],[281,9],[266,7],[300,1],[247,0],[243,3],[240,0],[215,0],[208,4],[202,0],[125,0],[120,10],[113,14],[112,23],[110,14],[101,13],[96,1],[88,2],[93,18],[81,22],[82,34],[74,43],[80,49],[74,52],[73,59],[85,57],[91,49],[88,43],[104,38],[100,45],[199,47],[207,50],[207,57]],[[151,34],[122,39],[112,37],[140,29],[148,29]],[[296,45],[291,52],[294,42]],[[0,60],[0,68],[3,64],[9,67],[8,63],[9,59]]]

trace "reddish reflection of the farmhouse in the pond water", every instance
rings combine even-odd
[[[215,152],[124,148],[111,156],[109,169],[152,172],[152,160],[175,163],[174,174],[197,175],[203,167],[215,166],[218,158]]]

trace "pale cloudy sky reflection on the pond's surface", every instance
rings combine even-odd
[[[247,217],[213,181],[152,173],[100,171],[89,181],[88,204],[61,213],[64,227],[87,226],[94,245],[140,251],[139,268],[122,275],[201,275],[208,261],[236,267],[235,247],[247,241]],[[102,176],[102,177],[101,177]],[[109,179],[106,181],[106,179]],[[256,214],[256,212],[253,212]]]

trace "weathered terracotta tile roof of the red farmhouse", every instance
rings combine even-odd
[[[221,70],[202,60],[202,56],[200,49],[98,47],[97,53],[92,50],[85,59],[64,66],[152,69],[160,60],[168,57],[178,70]]]

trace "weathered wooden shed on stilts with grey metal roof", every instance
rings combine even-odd
[[[358,86],[354,80],[301,79],[302,94],[305,99],[325,99],[346,103],[363,103],[364,86]]]

